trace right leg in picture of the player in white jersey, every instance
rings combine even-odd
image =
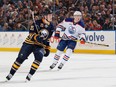
[[[76,46],[75,41],[68,41],[66,53],[65,53],[63,59],[61,60],[61,63],[59,64],[58,69],[62,69],[64,64],[70,59],[70,56],[71,56],[75,46]]]

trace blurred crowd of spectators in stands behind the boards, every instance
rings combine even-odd
[[[53,11],[56,26],[79,10],[86,30],[116,30],[114,0],[0,0],[0,31],[27,31],[34,19],[38,20],[46,8]],[[114,11],[113,11],[114,8]]]

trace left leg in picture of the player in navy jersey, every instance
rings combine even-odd
[[[21,66],[21,64],[27,59],[27,57],[29,56],[29,54],[32,52],[33,47],[31,47],[31,45],[28,44],[23,44],[23,46],[21,47],[21,50],[18,54],[17,59],[15,60],[15,62],[13,63],[11,70],[8,74],[8,76],[6,76],[7,80],[10,80],[12,78],[12,76],[16,73],[16,71],[19,69],[19,67]]]

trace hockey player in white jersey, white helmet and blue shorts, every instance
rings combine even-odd
[[[74,18],[66,18],[62,23],[58,24],[54,37],[60,38],[60,32],[63,31],[63,36],[57,46],[57,52],[54,56],[53,63],[50,69],[53,69],[60,59],[61,54],[66,49],[66,53],[63,56],[58,69],[62,69],[64,64],[69,60],[73,50],[76,47],[77,40],[80,40],[81,44],[85,43],[85,28],[82,21],[82,14],[80,11],[75,11]]]

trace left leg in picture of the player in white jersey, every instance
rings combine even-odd
[[[50,66],[50,69],[53,69],[56,64],[58,63],[59,59],[60,59],[60,56],[61,54],[63,53],[64,49],[66,48],[67,46],[67,41],[65,40],[61,40],[57,46],[57,52],[54,56],[54,59],[53,59],[53,63],[52,65]]]

